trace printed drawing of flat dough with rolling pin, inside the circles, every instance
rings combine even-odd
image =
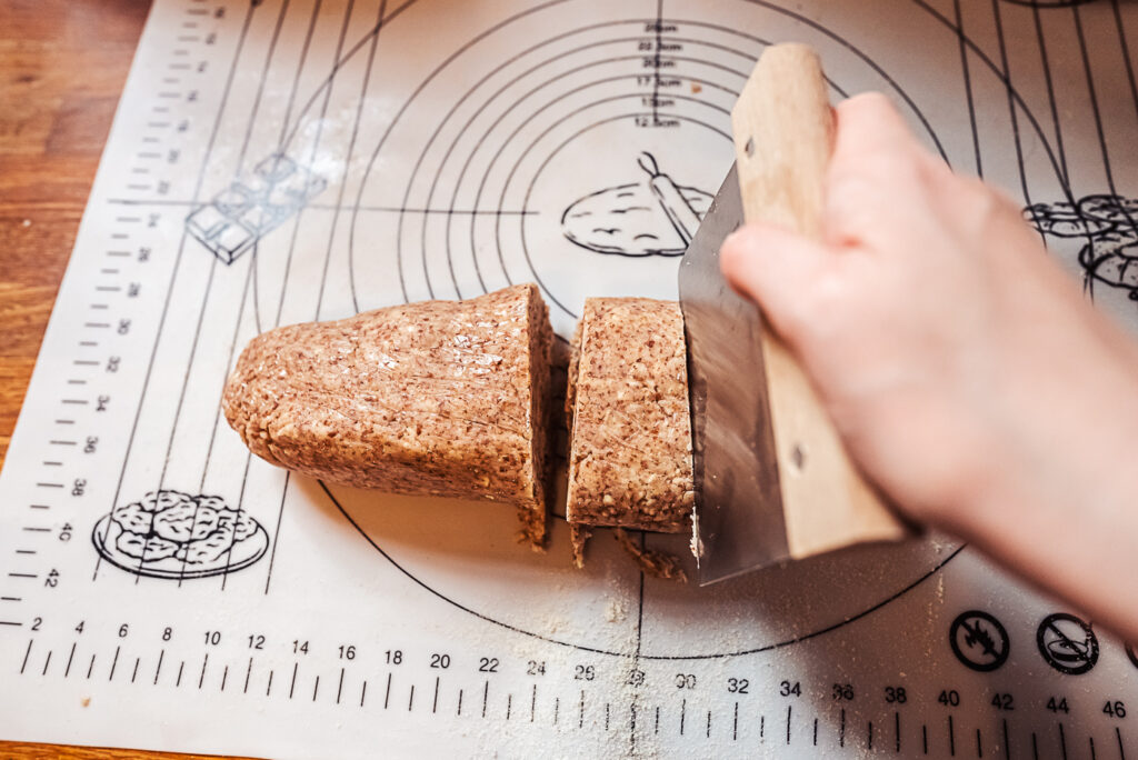
[[[703,217],[712,196],[676,184],[651,154],[642,154],[640,164],[643,181],[591,192],[564,210],[561,232],[570,242],[618,256],[679,256],[687,249],[695,230],[686,228]]]

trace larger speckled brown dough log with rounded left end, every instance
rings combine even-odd
[[[546,535],[549,309],[534,284],[254,338],[223,397],[263,460],[393,494],[512,504]]]

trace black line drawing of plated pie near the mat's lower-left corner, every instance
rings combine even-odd
[[[204,578],[246,568],[264,555],[269,535],[218,496],[149,493],[116,506],[91,534],[112,564],[152,578]]]

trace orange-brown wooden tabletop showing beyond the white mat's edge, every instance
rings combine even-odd
[[[149,7],[0,0],[0,462]],[[199,757],[0,736],[3,760]]]

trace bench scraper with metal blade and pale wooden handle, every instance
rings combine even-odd
[[[794,357],[719,271],[719,246],[744,221],[819,234],[833,129],[814,50],[768,48],[732,110],[735,165],[681,262],[700,585],[909,534],[850,463]]]

